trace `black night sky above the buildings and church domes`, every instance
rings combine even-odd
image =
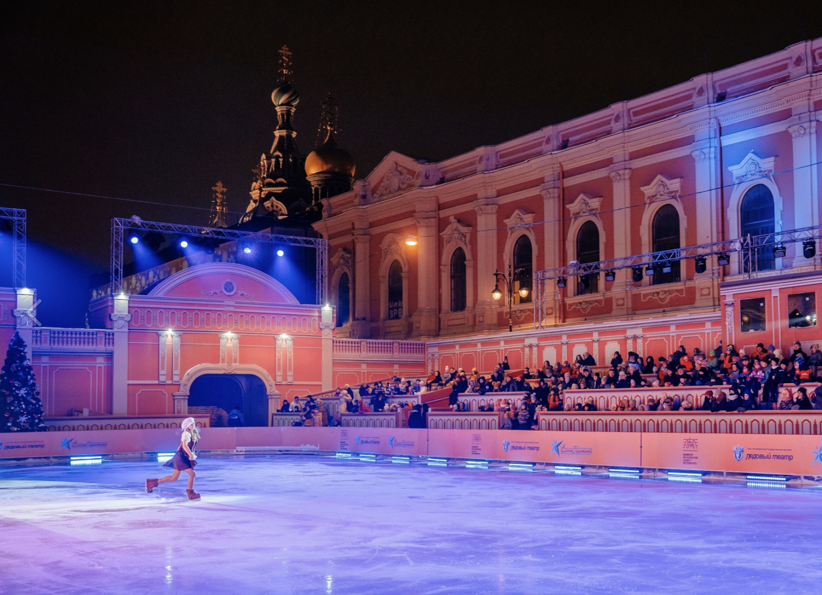
[[[390,150],[445,159],[822,36],[818,2],[721,4],[4,3],[0,182],[170,205],[0,187],[28,210],[40,318],[82,325],[112,217],[205,224],[217,180],[245,209],[283,44],[302,153],[333,91],[359,178]]]

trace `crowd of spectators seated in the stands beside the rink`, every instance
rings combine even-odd
[[[403,412],[408,409],[405,413],[409,427],[426,427],[427,405],[412,404],[401,397],[443,389],[450,389],[448,402],[454,411],[470,410],[465,395],[491,394],[478,409],[501,413],[503,429],[537,429],[540,412],[597,410],[592,397],[581,403],[571,403],[570,399],[566,402],[566,390],[705,387],[696,404],[664,391],[658,399],[648,397],[644,403],[628,393],[618,404],[612,405],[612,411],[697,409],[713,413],[744,413],[752,409],[822,409],[822,386],[811,389],[810,393],[801,386],[822,381],[822,352],[817,344],[810,346],[810,353],[806,353],[800,343],[794,344],[789,354],[783,354],[774,345],[765,347],[764,344],[757,345],[753,353],[746,353],[744,349],[737,351],[733,345],[723,347],[720,341],[718,347],[708,353],[699,348],[687,353],[683,346],[667,357],[656,358],[643,359],[633,352],[623,358],[616,352],[609,367],[595,371],[596,367],[594,358],[589,353],[582,353],[573,363],[543,362],[538,370],[525,367],[512,373],[505,357],[488,377],[479,374],[476,368],[467,372],[446,366],[442,372],[431,371],[424,381],[394,377],[385,383],[360,385],[356,391],[345,385],[330,398],[339,400],[339,413]],[[506,393],[520,394],[506,398]],[[329,417],[323,400],[311,395],[304,401],[295,397],[291,404],[284,400],[280,410],[302,413],[298,422],[302,425],[339,424],[339,413]]]

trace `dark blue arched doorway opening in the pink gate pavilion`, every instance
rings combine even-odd
[[[208,413],[212,426],[224,427],[235,407],[242,411],[243,425],[267,426],[266,383],[253,374],[203,374],[192,381],[188,413]]]

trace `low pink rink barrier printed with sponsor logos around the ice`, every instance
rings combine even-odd
[[[179,430],[0,434],[0,459],[173,452]],[[822,476],[822,437],[367,427],[211,427],[201,451],[254,448]]]

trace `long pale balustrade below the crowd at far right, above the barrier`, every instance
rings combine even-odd
[[[537,417],[543,431],[822,434],[822,411],[549,411]]]

